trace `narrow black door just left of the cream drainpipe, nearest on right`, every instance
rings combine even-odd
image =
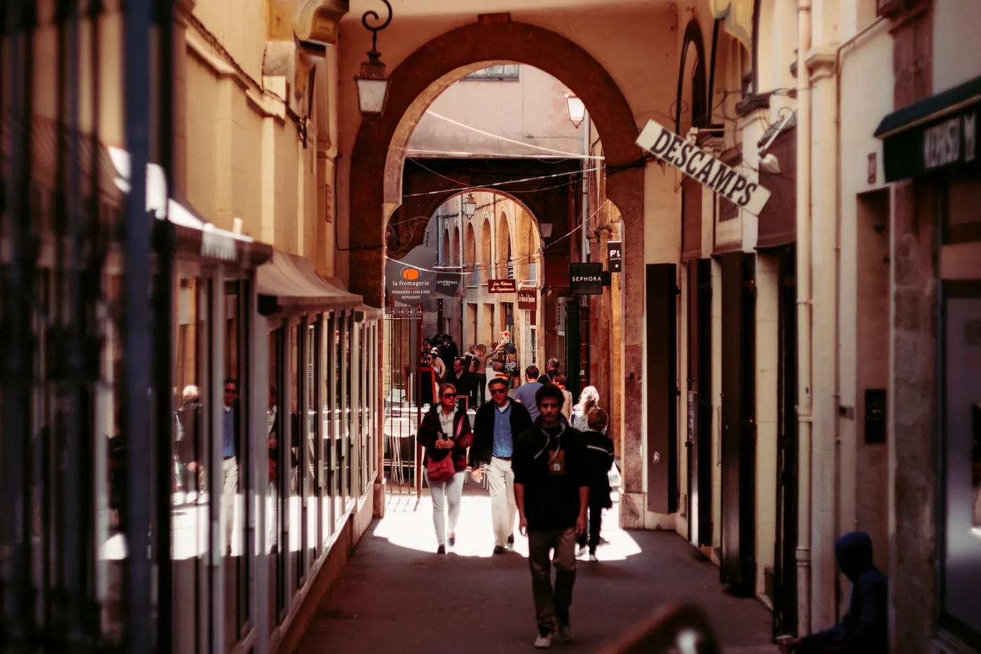
[[[773,635],[797,633],[798,428],[797,283],[793,245],[780,255],[778,311],[777,541],[773,549]]]

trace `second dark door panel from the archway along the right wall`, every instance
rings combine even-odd
[[[688,539],[712,543],[712,262],[688,264]]]

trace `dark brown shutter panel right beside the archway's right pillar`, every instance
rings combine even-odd
[[[657,514],[678,511],[677,279],[674,264],[647,264],[647,511]]]

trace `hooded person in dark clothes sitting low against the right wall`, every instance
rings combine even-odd
[[[889,651],[889,579],[872,564],[872,539],[852,531],[835,543],[838,567],[852,582],[848,613],[838,625],[781,643],[794,654],[839,652],[886,654]]]

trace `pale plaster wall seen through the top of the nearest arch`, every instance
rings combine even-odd
[[[409,154],[560,156],[548,150],[582,154],[583,128],[576,129],[569,121],[565,84],[532,66],[520,66],[518,76],[516,81],[463,79],[451,84],[430,106],[432,113],[420,119],[409,140]]]

